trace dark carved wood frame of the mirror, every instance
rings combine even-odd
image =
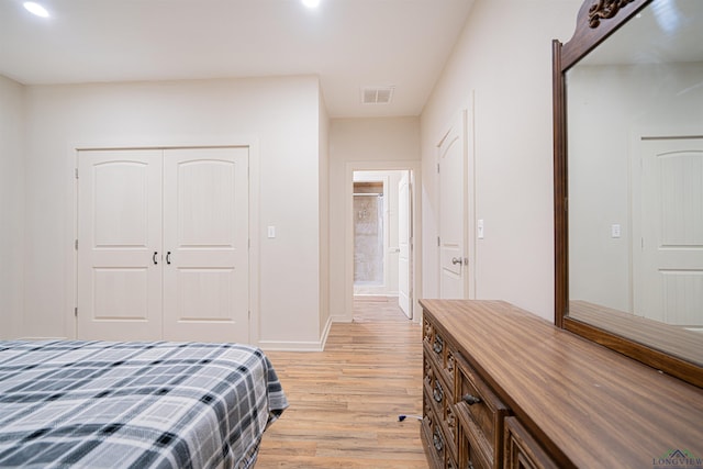
[[[553,42],[555,324],[703,388],[695,364],[569,316],[567,102],[565,74],[654,0],[584,0],[573,36]]]

